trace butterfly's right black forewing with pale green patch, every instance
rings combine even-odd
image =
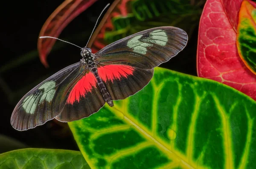
[[[95,54],[99,63],[152,69],[170,60],[186,46],[188,37],[180,28],[148,29],[118,40]]]

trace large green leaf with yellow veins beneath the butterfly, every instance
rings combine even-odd
[[[155,68],[114,104],[69,123],[93,169],[256,168],[256,102],[229,86]]]

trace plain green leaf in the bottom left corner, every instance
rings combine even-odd
[[[0,155],[0,169],[90,169],[81,152],[20,149]]]

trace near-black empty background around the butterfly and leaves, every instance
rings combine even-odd
[[[18,140],[27,147],[78,150],[67,123],[49,121],[35,129],[19,132],[12,128],[10,117],[17,102],[38,83],[64,67],[80,60],[80,49],[58,41],[48,56],[49,68],[39,60],[38,35],[49,15],[63,0],[4,1],[1,10],[0,31],[0,152],[21,148],[1,141],[3,135]],[[61,39],[84,47],[102,9],[113,0],[98,0],[76,17],[61,33]],[[165,67],[196,75],[197,31],[195,29],[186,49]],[[81,39],[79,35],[87,35]],[[54,50],[55,49],[55,50]],[[186,60],[184,60],[186,59]]]

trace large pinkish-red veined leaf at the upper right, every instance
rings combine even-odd
[[[207,0],[199,26],[197,71],[199,77],[227,84],[256,100],[256,75],[244,65],[236,47],[241,2]]]

